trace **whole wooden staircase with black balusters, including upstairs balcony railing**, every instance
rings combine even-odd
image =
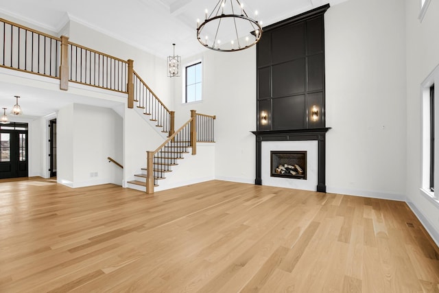
[[[214,142],[215,116],[198,114],[195,110],[191,110],[189,121],[174,131],[174,111],[169,110],[134,71],[133,60],[121,60],[71,43],[67,36],[49,36],[1,18],[0,26],[3,26],[0,67],[58,79],[63,91],[69,91],[69,83],[75,82],[126,93],[128,108],[134,108],[136,103],[135,110],[154,124],[152,128],[165,142],[147,152],[147,165],[134,174],[136,180],[128,182],[132,187],[146,188],[147,193],[153,193],[154,187],[185,158],[185,154],[196,154],[197,142]],[[38,44],[44,44],[44,49],[40,45],[36,48],[27,45],[34,38],[38,39]]]

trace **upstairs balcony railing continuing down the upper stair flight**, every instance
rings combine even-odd
[[[128,108],[134,108],[134,61],[104,54],[29,27],[0,19],[0,67],[44,75],[60,80],[60,89],[67,91],[69,82],[128,94]],[[139,76],[135,74],[137,78]],[[143,80],[154,105],[151,108],[159,125],[166,132],[171,127],[171,111]],[[163,106],[159,106],[163,105]],[[167,113],[164,113],[163,109]]]

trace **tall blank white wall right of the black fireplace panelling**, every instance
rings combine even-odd
[[[405,6],[350,0],[324,25],[327,191],[404,200]]]

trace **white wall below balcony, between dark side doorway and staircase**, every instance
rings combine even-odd
[[[123,120],[110,108],[71,104],[59,110],[58,183],[82,187],[104,183],[122,184]]]

